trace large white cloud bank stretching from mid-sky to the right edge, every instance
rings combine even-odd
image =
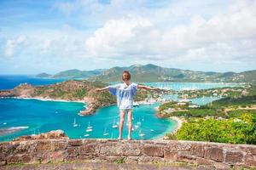
[[[168,8],[172,11],[172,6]],[[166,23],[166,28],[159,24],[164,22],[160,20],[160,16],[152,20],[137,15],[108,20],[86,40],[85,47],[90,54],[106,59],[137,56],[145,60],[203,62],[245,57],[245,42],[256,41],[255,1],[237,1],[227,12],[209,18],[193,14],[189,22],[175,26]]]

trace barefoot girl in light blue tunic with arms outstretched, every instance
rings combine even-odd
[[[123,83],[107,86],[105,88],[96,88],[96,91],[103,91],[108,89],[111,94],[117,97],[117,105],[120,112],[118,139],[122,139],[123,127],[125,122],[125,112],[128,112],[128,139],[131,139],[133,98],[137,93],[137,88],[143,88],[147,90],[156,90],[159,88],[150,88],[147,86],[138,85],[134,82],[131,83],[131,74],[129,71],[123,72],[122,81]]]

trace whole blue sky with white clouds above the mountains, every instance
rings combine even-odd
[[[255,0],[0,0],[0,74],[256,69]]]

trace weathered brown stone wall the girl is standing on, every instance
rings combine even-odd
[[[0,143],[1,165],[55,161],[185,161],[218,168],[256,166],[256,145],[167,140],[34,139]]]

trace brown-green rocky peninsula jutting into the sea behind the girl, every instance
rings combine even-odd
[[[22,83],[14,89],[0,90],[0,97],[83,102],[87,106],[79,112],[79,115],[84,116],[95,113],[98,108],[116,103],[112,94],[95,91],[96,88],[105,86],[108,86],[108,84],[86,80],[69,80],[45,86],[32,86],[28,83]],[[162,90],[162,92],[158,91],[153,94],[153,92],[139,89],[135,101],[146,99],[148,93],[155,96],[165,91]]]

